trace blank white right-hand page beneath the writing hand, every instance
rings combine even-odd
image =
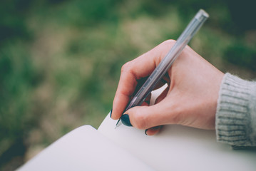
[[[98,131],[155,170],[256,170],[256,151],[216,142],[214,130],[168,125],[158,135],[121,125],[106,116]]]

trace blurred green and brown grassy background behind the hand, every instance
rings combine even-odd
[[[123,63],[177,39],[223,72],[256,74],[255,1],[1,0],[0,170],[14,170],[78,126],[98,128]]]

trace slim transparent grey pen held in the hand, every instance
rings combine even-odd
[[[167,53],[165,58],[159,63],[159,65],[155,68],[153,73],[148,77],[143,86],[138,90],[130,103],[126,106],[126,110],[133,108],[134,106],[141,105],[145,98],[149,95],[149,93],[155,88],[158,81],[165,75],[170,66],[175,61],[183,48],[188,44],[191,38],[195,35],[195,33],[200,29],[200,27],[204,24],[206,19],[208,19],[209,15],[203,9],[200,9],[197,14],[195,14],[194,18],[190,21],[188,26],[185,28],[183,33],[180,35],[178,40],[175,42],[170,51]],[[116,128],[121,125],[121,119],[116,123]]]

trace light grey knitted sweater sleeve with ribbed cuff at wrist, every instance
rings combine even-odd
[[[256,82],[226,73],[217,100],[218,142],[256,146]]]

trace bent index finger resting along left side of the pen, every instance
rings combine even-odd
[[[142,56],[123,65],[118,88],[113,100],[111,118],[118,119],[121,117],[126,105],[130,101],[130,97],[133,95],[138,80],[149,76],[154,71],[174,43],[175,41],[173,40],[164,41]]]

